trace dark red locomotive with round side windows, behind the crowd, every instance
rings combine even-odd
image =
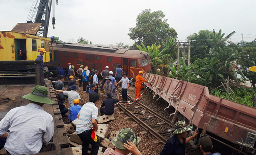
[[[94,68],[99,72],[109,66],[109,71],[115,74],[118,65],[128,77],[135,78],[140,70],[150,71],[151,60],[147,52],[125,49],[116,46],[103,46],[91,44],[53,44],[54,66],[60,64],[68,68],[68,63],[78,69],[80,65]]]

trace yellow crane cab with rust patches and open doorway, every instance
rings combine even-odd
[[[40,48],[45,48],[44,63],[53,63],[52,41],[37,37],[41,23],[18,23],[11,31],[0,31],[0,61],[35,60]],[[0,66],[0,70],[28,70],[34,65]]]

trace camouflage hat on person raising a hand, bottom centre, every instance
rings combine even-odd
[[[118,137],[114,137],[111,140],[112,144],[121,150],[126,150],[126,148],[124,148],[124,143],[127,143],[126,141],[131,141],[137,146],[140,143],[141,138],[136,136],[131,128],[125,128],[121,129],[118,133]]]

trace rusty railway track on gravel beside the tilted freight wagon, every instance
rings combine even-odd
[[[117,88],[117,90],[119,92],[121,92],[121,90],[119,88]],[[131,99],[131,101],[134,101],[134,98],[131,97],[130,95],[127,95],[127,97],[129,99]],[[157,113],[156,111],[150,109],[150,107],[144,105],[140,101],[137,101],[130,105],[118,104],[118,107],[120,107],[121,110],[125,111],[125,113],[127,113],[128,116],[130,116],[134,121],[139,123],[144,129],[146,129],[148,132],[150,132],[154,137],[156,137],[158,140],[160,140],[163,144],[166,143],[166,141],[167,141],[166,137],[169,137],[171,135],[170,131],[172,131],[172,130],[170,130],[170,129],[173,129],[171,122],[167,118],[165,118],[161,114]],[[142,108],[144,110],[142,110],[142,112],[138,112],[138,111],[140,111],[139,108]],[[133,111],[135,111],[135,112],[133,112]],[[146,114],[146,112],[149,113],[149,115]],[[145,117],[145,116],[147,116],[147,117]],[[154,125],[148,124],[148,122],[150,122],[150,120],[152,120],[153,118],[157,118],[158,120],[160,120],[162,122],[161,123],[158,122],[158,124],[154,124]],[[167,131],[166,131],[166,127],[167,127]],[[163,132],[158,131],[154,128],[162,129]]]

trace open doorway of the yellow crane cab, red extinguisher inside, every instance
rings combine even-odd
[[[26,60],[26,39],[14,39],[15,60]]]

